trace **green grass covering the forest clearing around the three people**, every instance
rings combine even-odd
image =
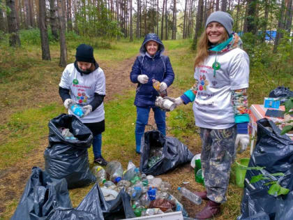
[[[78,41],[68,42],[68,62],[74,61],[75,45]],[[84,42],[87,43],[87,42]],[[141,41],[129,43],[119,41],[111,48],[95,48],[94,55],[101,64],[117,66],[123,60],[138,54]],[[175,80],[170,96],[178,97],[193,85],[193,60],[195,53],[190,50],[190,41],[163,41],[167,54],[172,62]],[[41,61],[39,45],[24,45],[15,51],[0,45],[0,105],[4,109],[3,121],[0,122],[0,172],[13,167],[17,162],[29,163],[34,150],[47,143],[47,123],[61,112],[65,112],[57,91],[63,68],[59,63],[59,45],[50,45],[52,61]],[[3,54],[3,55],[2,55]],[[9,58],[10,56],[10,58]],[[262,103],[264,96],[278,85],[292,87],[292,77],[280,73],[280,80],[273,74],[266,74],[266,68],[253,66],[250,69],[249,103]],[[107,160],[119,160],[126,168],[130,159],[138,166],[140,157],[135,154],[135,91],[128,89],[122,95],[115,96],[105,103],[106,130],[103,133],[103,156]],[[167,133],[179,138],[194,153],[200,153],[200,136],[194,124],[192,105],[180,106],[173,112],[167,112]],[[40,149],[42,151],[43,149]],[[89,149],[89,160],[93,160],[92,149]],[[250,157],[246,151],[238,158]],[[91,164],[92,166],[92,164]],[[228,201],[223,214],[217,219],[235,219],[240,212],[241,194],[235,184],[235,166],[232,166],[230,185],[227,191]],[[25,177],[27,178],[27,177]],[[190,170],[176,169],[162,178],[172,182],[176,191],[184,181],[190,181],[190,189],[202,190],[195,183],[194,174]],[[23,182],[25,179],[22,179]],[[22,183],[23,184],[23,183]],[[7,186],[8,187],[8,186]],[[91,186],[70,190],[70,198],[76,207],[87,195]],[[21,195],[23,189],[12,189]],[[14,197],[3,204],[5,211],[0,219],[12,216],[19,197]],[[193,212],[190,206],[190,212]]]

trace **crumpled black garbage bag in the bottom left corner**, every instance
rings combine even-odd
[[[53,181],[46,172],[33,167],[11,219],[47,219],[57,206],[72,208],[66,179]]]

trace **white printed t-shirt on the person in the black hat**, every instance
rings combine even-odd
[[[62,73],[59,87],[70,89],[70,98],[80,105],[89,105],[93,101],[94,94],[105,95],[105,75],[99,67],[89,74],[80,74],[74,64],[68,64]],[[73,115],[71,110],[68,114]],[[101,122],[105,119],[104,103],[89,115],[80,118],[83,123]]]

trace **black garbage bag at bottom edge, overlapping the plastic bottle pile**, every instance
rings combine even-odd
[[[135,217],[130,203],[130,196],[121,190],[114,200],[106,201],[98,183],[78,205],[76,210],[90,212],[96,219],[129,219]]]

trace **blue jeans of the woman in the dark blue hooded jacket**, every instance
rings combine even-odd
[[[155,113],[155,120],[157,124],[158,131],[166,135],[166,112],[160,110],[160,108],[152,108]],[[140,152],[140,142],[142,135],[144,134],[144,128],[149,121],[149,111],[151,108],[140,108],[136,107],[136,125],[135,125],[135,143],[136,152]]]

